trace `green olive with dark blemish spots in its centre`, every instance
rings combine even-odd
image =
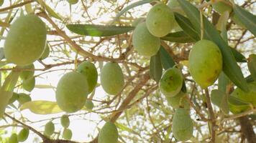
[[[165,71],[159,82],[160,92],[165,96],[174,97],[183,85],[183,75],[180,69],[170,68]]]

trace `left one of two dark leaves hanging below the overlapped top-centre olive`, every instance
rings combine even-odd
[[[158,83],[162,77],[162,73],[163,68],[160,59],[160,51],[158,51],[155,56],[151,56],[150,58],[150,77]]]

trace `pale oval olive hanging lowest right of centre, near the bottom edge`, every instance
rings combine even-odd
[[[185,142],[193,136],[193,122],[187,109],[178,108],[173,116],[173,136]]]

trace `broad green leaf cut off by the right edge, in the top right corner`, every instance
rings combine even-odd
[[[233,10],[239,21],[256,36],[256,16],[236,4],[233,5]]]

